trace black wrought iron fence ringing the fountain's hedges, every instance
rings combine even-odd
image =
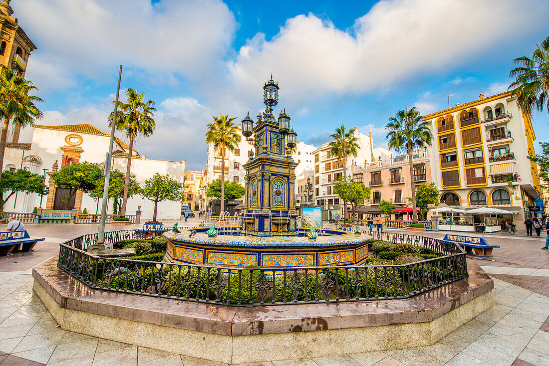
[[[105,233],[114,243],[134,230]],[[440,257],[361,266],[228,268],[97,257],[85,251],[97,234],[60,244],[58,266],[95,289],[231,306],[404,299],[467,277],[466,253],[456,244],[400,233],[374,239],[413,244]]]

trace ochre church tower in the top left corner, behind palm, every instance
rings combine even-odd
[[[17,18],[12,16],[10,0],[0,2],[0,63],[20,76],[25,76],[29,55],[36,46],[27,37]],[[13,142],[19,142],[20,128],[13,131]]]

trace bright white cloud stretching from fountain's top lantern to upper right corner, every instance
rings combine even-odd
[[[544,21],[541,0],[385,0],[343,31],[313,14],[288,19],[272,40],[258,33],[228,63],[239,95],[275,72],[291,103],[329,93],[385,89],[463,64]],[[501,21],[513,14],[512,22]]]

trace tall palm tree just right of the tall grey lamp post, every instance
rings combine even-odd
[[[118,101],[118,109],[116,112],[116,129],[124,132],[126,138],[130,140],[128,148],[128,166],[126,168],[126,179],[124,182],[124,194],[122,195],[122,206],[118,214],[126,215],[126,205],[128,202],[128,188],[130,187],[130,171],[132,165],[133,142],[139,136],[148,137],[153,134],[156,123],[153,119],[153,114],[156,108],[153,107],[153,100],[143,102],[145,93],[137,94],[132,88],[126,90],[128,102],[123,103]],[[114,104],[114,102],[113,102]],[[109,126],[113,123],[114,112],[109,116]]]

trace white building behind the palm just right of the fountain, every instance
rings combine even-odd
[[[391,152],[389,150],[373,148],[372,134],[366,136],[358,132],[358,128],[355,127],[354,136],[357,138],[359,149],[356,157],[351,156],[347,159],[346,173],[348,175],[351,175],[352,165],[390,159]],[[328,219],[333,218],[335,213],[342,215],[343,202],[340,202],[339,196],[333,193],[332,182],[343,176],[343,161],[330,154],[329,142],[313,151],[313,154],[315,155],[315,203],[328,211]]]

